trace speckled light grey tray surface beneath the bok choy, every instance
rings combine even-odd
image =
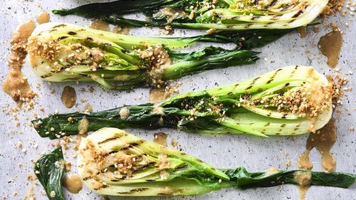
[[[7,71],[7,58],[9,56],[9,38],[11,31],[16,28],[19,23],[34,19],[40,11],[51,11],[58,7],[70,7],[79,4],[84,4],[84,1],[63,0],[59,3],[53,0],[47,1],[9,1],[1,0],[0,6],[0,78],[4,79]],[[135,17],[135,15],[133,15]],[[350,15],[349,15],[350,16]],[[51,21],[63,21],[68,23],[77,23],[82,26],[88,26],[89,21],[80,17],[66,16],[59,17],[51,14]],[[340,73],[345,74],[349,70],[355,70],[355,23],[350,17],[333,16],[327,19],[325,23],[335,22],[342,31],[343,46],[341,58],[338,68],[342,70]],[[350,28],[346,28],[345,22],[350,24]],[[280,68],[286,65],[313,65],[321,73],[333,74],[334,70],[326,65],[325,56],[321,55],[316,47],[320,36],[323,36],[330,28],[320,27],[319,33],[314,33],[309,30],[306,38],[300,38],[297,33],[291,33],[284,36],[279,41],[269,44],[258,51],[262,51],[259,56],[261,60],[255,65],[245,65],[239,67],[230,67],[226,69],[210,70],[197,75],[189,75],[181,78],[183,85],[179,88],[181,93],[190,90],[202,90],[211,88],[215,85],[224,85],[227,83],[235,83],[239,80],[246,80],[255,75],[266,73],[270,70]],[[132,30],[130,33],[138,36],[157,36],[157,29],[139,29]],[[175,31],[177,36],[189,36],[189,31]],[[204,44],[203,44],[204,45]],[[232,45],[226,45],[232,47]],[[197,48],[197,46],[193,47]],[[309,53],[306,53],[308,51]],[[138,104],[146,102],[149,89],[139,88],[131,92],[119,92],[113,90],[103,90],[99,85],[91,83],[52,83],[49,85],[37,78],[31,71],[30,66],[26,63],[23,67],[23,72],[28,77],[33,89],[38,93],[39,105],[44,107],[44,112],[39,110],[39,105],[36,105],[34,110],[28,112],[20,112],[18,114],[21,122],[20,127],[15,127],[13,117],[6,115],[5,112],[0,112],[0,196],[6,196],[8,199],[23,199],[28,191],[29,181],[26,180],[27,174],[33,173],[33,164],[31,159],[38,159],[40,152],[50,151],[53,149],[50,143],[53,141],[47,138],[38,137],[35,130],[28,126],[28,122],[33,119],[33,112],[39,116],[46,116],[59,110],[59,112],[73,112],[75,110],[83,110],[86,100],[93,106],[94,110],[104,110],[112,107],[120,106],[122,103]],[[354,75],[348,75],[350,80],[349,85],[355,88]],[[39,87],[36,88],[36,85]],[[61,92],[65,85],[73,85],[77,91],[78,101],[75,107],[67,109],[61,102]],[[89,93],[89,85],[95,88],[94,93]],[[56,92],[49,93],[53,88]],[[86,92],[80,92],[85,88]],[[142,98],[140,98],[142,97]],[[6,110],[14,107],[15,103],[9,96],[0,92],[1,109]],[[337,120],[337,141],[331,150],[337,160],[337,171],[356,173],[356,137],[354,132],[348,129],[351,125],[355,125],[355,93],[347,92],[345,95],[344,105],[340,107],[342,115],[340,120]],[[11,133],[12,131],[14,133]],[[23,134],[20,132],[23,131]],[[147,140],[152,140],[153,133],[157,131],[145,130],[129,130],[133,134],[143,137]],[[166,132],[168,143],[172,139],[179,141],[179,145],[185,152],[194,154],[210,164],[221,167],[238,167],[245,166],[251,171],[265,170],[269,167],[278,167],[279,169],[287,169],[285,162],[290,159],[291,166],[288,169],[296,169],[298,155],[305,149],[305,140],[308,135],[301,135],[295,141],[292,137],[271,137],[259,138],[248,137],[245,135],[194,135],[186,132],[177,132],[176,130],[160,130]],[[16,148],[17,142],[23,142],[22,148]],[[36,146],[38,147],[36,148]],[[169,145],[170,146],[170,145]],[[26,153],[21,152],[21,149],[27,149]],[[285,157],[285,152],[288,152],[288,158]],[[72,158],[73,152],[66,153],[66,159],[70,160],[75,165],[75,159]],[[311,155],[313,160],[314,170],[321,170],[320,155],[314,149]],[[18,163],[22,163],[22,167],[18,167]],[[76,172],[73,167],[72,172]],[[356,199],[355,184],[350,189],[338,189],[323,186],[313,186],[308,192],[307,199]],[[35,192],[37,199],[46,199],[41,195],[41,186],[36,186]],[[19,194],[13,196],[13,192]],[[88,189],[84,188],[79,194],[68,194],[67,199],[100,199],[98,195],[93,194]],[[165,199],[161,198],[126,198],[117,199]],[[299,199],[298,190],[295,186],[276,186],[271,188],[248,189],[245,191],[236,189],[224,189],[211,194],[200,196],[179,196],[170,199]]]

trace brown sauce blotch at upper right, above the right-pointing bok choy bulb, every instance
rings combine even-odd
[[[342,36],[340,31],[333,31],[322,36],[318,42],[318,48],[324,56],[328,57],[328,65],[335,68],[339,62],[342,47]]]

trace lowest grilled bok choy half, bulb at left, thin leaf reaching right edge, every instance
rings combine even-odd
[[[356,178],[355,174],[335,172],[216,169],[197,157],[115,128],[86,137],[79,151],[78,172],[86,186],[111,196],[190,195],[281,184],[347,188]]]

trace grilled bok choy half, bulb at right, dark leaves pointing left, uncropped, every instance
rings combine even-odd
[[[176,95],[157,104],[50,115],[33,120],[33,125],[41,137],[51,139],[102,127],[172,127],[261,137],[300,135],[318,130],[330,120],[332,102],[339,92],[340,87],[313,67],[296,65],[240,83]]]

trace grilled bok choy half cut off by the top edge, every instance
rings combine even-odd
[[[53,10],[62,16],[75,14],[129,26],[164,26],[213,30],[286,29],[306,26],[328,4],[328,0],[119,0],[74,9]],[[123,18],[142,12],[150,21]]]

